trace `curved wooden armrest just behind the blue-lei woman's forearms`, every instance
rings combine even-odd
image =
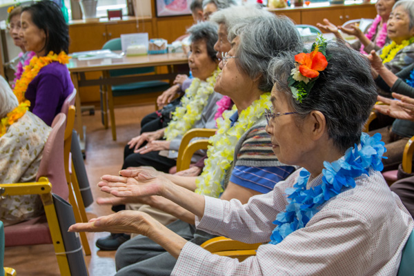
[[[210,253],[218,253],[229,250],[256,250],[261,245],[261,243],[245,244],[227,237],[214,237],[201,244],[201,247],[210,251]]]

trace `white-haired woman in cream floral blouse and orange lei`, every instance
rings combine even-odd
[[[50,127],[23,105],[0,77],[0,183],[36,179],[43,146]],[[43,212],[38,195],[6,196],[0,199],[0,219],[7,226],[37,217]]]

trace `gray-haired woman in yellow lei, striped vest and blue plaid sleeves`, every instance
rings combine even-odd
[[[197,188],[201,195],[220,196],[224,200],[235,198],[243,203],[253,195],[268,193],[277,181],[295,170],[273,155],[262,115],[270,103],[270,93],[266,91],[272,87],[267,70],[271,57],[277,57],[284,50],[302,48],[302,41],[290,19],[251,9],[250,14],[252,17],[229,31],[232,48],[221,62],[223,71],[217,77],[215,90],[233,99],[235,106],[217,121],[218,131],[210,138],[213,146],[208,149],[201,176],[196,179],[148,171],[164,175],[188,190]],[[141,171],[146,172],[133,172]],[[110,176],[103,179],[107,177]],[[104,201],[114,200],[108,198],[99,203]],[[178,217],[180,220],[167,228],[195,244],[214,237],[195,230],[194,214],[164,197],[143,197],[139,201]],[[143,236],[122,244],[115,259],[117,275],[170,275],[176,262],[161,246]]]

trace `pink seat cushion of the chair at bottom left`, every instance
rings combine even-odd
[[[6,246],[52,244],[46,215],[4,228]]]

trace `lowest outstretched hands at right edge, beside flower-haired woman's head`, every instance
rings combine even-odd
[[[396,119],[414,121],[414,99],[397,93],[393,93],[393,97],[395,99],[378,96],[378,101],[382,101],[385,105],[376,104],[375,110]]]

